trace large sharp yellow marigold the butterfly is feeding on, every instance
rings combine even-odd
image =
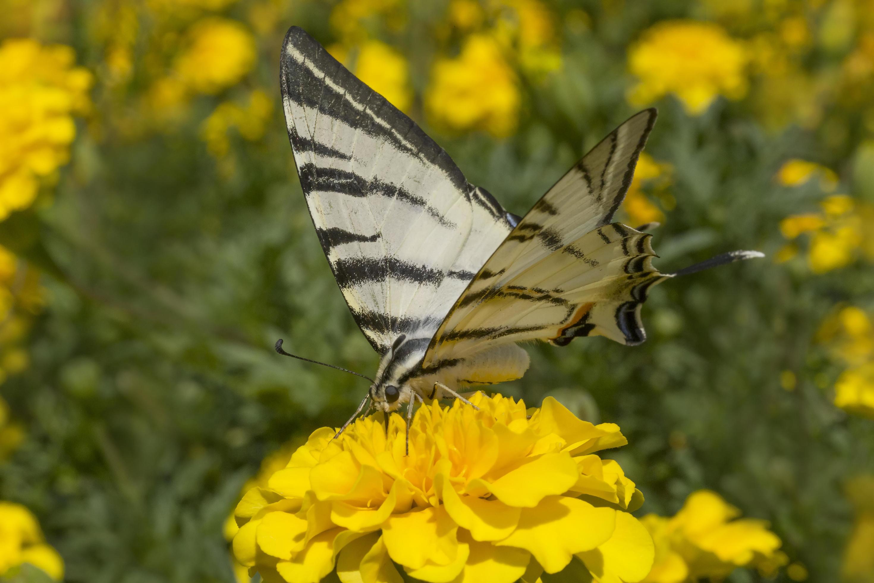
[[[338,439],[323,427],[267,488],[235,511],[233,551],[265,580],[344,583],[412,578],[512,583],[574,561],[596,580],[639,581],[652,541],[628,513],[640,490],[594,452],[627,441],[612,423],[577,419],[555,399],[476,393],[357,420]],[[529,417],[531,415],[531,417]]]

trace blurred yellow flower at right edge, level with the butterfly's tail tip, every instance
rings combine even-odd
[[[780,221],[780,232],[786,239],[796,239],[802,233],[810,235],[810,270],[823,274],[850,265],[860,255],[874,260],[874,207],[843,194],[825,198],[821,207],[820,213],[793,215]],[[780,259],[791,256],[780,252]]]

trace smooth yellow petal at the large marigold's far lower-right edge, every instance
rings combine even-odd
[[[604,583],[637,583],[653,566],[655,546],[643,524],[628,512],[616,513],[616,529],[606,543],[577,557]]]

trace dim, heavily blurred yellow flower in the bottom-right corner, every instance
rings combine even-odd
[[[856,519],[843,552],[842,580],[874,583],[874,475],[860,475],[847,484],[847,498]]]

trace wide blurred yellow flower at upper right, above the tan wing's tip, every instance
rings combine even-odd
[[[655,24],[628,51],[628,68],[638,83],[628,94],[646,105],[675,94],[690,115],[700,115],[718,95],[746,95],[744,45],[718,24],[671,20]]]

